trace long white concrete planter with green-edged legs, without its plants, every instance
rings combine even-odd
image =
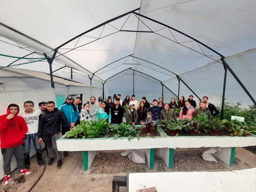
[[[224,149],[216,153],[216,156],[232,166],[235,147],[252,146],[256,143],[256,137],[253,136],[167,136],[161,129],[159,133],[161,135],[159,137],[140,137],[140,140],[133,138],[130,141],[127,137],[67,139],[64,135],[57,140],[57,147],[59,151],[84,151],[84,163],[86,163],[84,169],[90,167],[95,151],[145,149],[148,166],[153,169],[154,148],[161,148],[167,167],[172,168],[173,149],[176,147],[223,147]]]

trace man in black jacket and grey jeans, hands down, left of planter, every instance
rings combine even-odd
[[[48,166],[53,165],[53,149],[55,150],[58,159],[57,168],[59,169],[62,167],[62,161],[61,152],[57,150],[56,141],[57,139],[59,139],[61,122],[69,127],[70,124],[64,113],[61,110],[58,110],[58,108],[55,108],[55,103],[53,101],[48,101],[46,105],[47,110],[44,114],[42,114],[38,125],[39,143],[42,143],[44,139],[45,143],[47,144],[47,149],[50,157]]]

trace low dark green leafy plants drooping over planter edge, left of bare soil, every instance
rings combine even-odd
[[[127,137],[130,141],[133,137],[137,137],[139,140],[139,134],[141,132],[141,129],[136,129],[134,125],[130,125],[129,123],[121,123],[121,124],[112,124],[110,125],[109,129],[112,134],[113,138],[116,139],[118,137]]]

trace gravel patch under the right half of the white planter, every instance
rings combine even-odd
[[[177,171],[227,169],[222,162],[215,163],[203,160],[202,152],[203,151],[174,151],[173,168]]]

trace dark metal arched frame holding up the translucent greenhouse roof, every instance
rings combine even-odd
[[[164,24],[164,23],[161,23],[161,22],[159,22],[159,21],[157,21],[157,20],[154,20],[154,19],[152,19],[152,18],[150,18],[150,17],[146,17],[146,16],[144,16],[144,15],[141,15],[140,13],[137,13],[136,11],[138,11],[139,9],[140,9],[140,8],[137,8],[137,9],[135,9],[135,10],[129,11],[129,12],[127,12],[127,13],[124,13],[124,14],[120,15],[120,16],[117,16],[117,17],[115,17],[115,18],[112,18],[112,19],[110,19],[110,20],[108,20],[108,21],[106,21],[106,22],[104,22],[104,23],[102,23],[102,24],[99,24],[99,25],[97,25],[97,26],[95,26],[95,27],[93,27],[93,28],[91,28],[91,29],[89,29],[89,30],[87,30],[87,31],[85,31],[85,32],[83,32],[83,33],[77,35],[76,37],[74,37],[74,38],[72,38],[72,39],[66,41],[66,42],[63,43],[62,45],[56,47],[56,48],[54,49],[54,53],[53,53],[52,57],[47,59],[47,61],[48,61],[48,63],[49,63],[49,68],[50,68],[51,86],[52,86],[52,88],[54,88],[53,74],[52,74],[52,73],[53,73],[53,72],[52,72],[52,62],[53,62],[53,60],[55,59],[56,54],[58,53],[58,49],[60,49],[60,48],[63,47],[64,45],[68,44],[69,42],[75,40],[76,38],[81,37],[82,35],[84,35],[84,34],[90,32],[90,31],[93,31],[93,30],[95,30],[95,29],[97,29],[97,28],[99,28],[99,27],[101,27],[101,26],[104,26],[104,25],[106,25],[106,24],[109,24],[110,22],[112,22],[112,21],[114,21],[114,20],[117,20],[117,19],[119,19],[119,18],[122,18],[122,17],[124,17],[124,16],[126,16],[126,15],[133,14],[133,15],[136,15],[136,17],[138,16],[137,18],[138,18],[139,20],[140,20],[139,17],[143,17],[143,18],[148,19],[148,20],[150,20],[150,21],[152,21],[152,22],[155,22],[155,23],[157,23],[157,24],[159,24],[159,25],[165,26],[165,27],[167,27],[168,29],[174,30],[174,31],[176,31],[176,32],[178,32],[178,33],[180,33],[180,34],[182,34],[182,35],[184,35],[184,36],[186,36],[186,37],[192,39],[193,41],[197,42],[197,44],[198,44],[199,47],[200,47],[200,45],[202,45],[202,46],[204,46],[205,48],[211,50],[212,52],[216,53],[217,55],[219,55],[219,56],[221,57],[221,61],[222,61],[222,62],[220,62],[220,61],[218,61],[218,60],[215,60],[215,59],[211,58],[210,56],[205,55],[201,47],[200,47],[200,49],[202,50],[203,53],[200,53],[200,52],[198,52],[198,51],[196,51],[196,50],[194,50],[194,49],[191,49],[191,48],[189,48],[189,47],[187,47],[187,46],[184,46],[184,45],[180,44],[180,43],[177,42],[177,41],[173,41],[173,40],[171,40],[171,39],[169,39],[169,38],[167,38],[167,37],[164,37],[164,36],[162,36],[162,35],[160,35],[160,34],[158,34],[158,33],[156,33],[156,32],[153,32],[147,25],[146,25],[146,26],[148,27],[148,29],[149,29],[150,31],[122,30],[122,28],[119,30],[119,31],[123,31],[123,32],[155,33],[155,34],[160,35],[160,36],[162,36],[162,37],[164,37],[164,38],[166,38],[166,39],[169,39],[170,41],[173,41],[173,42],[175,42],[175,43],[177,43],[177,44],[179,44],[179,45],[181,45],[181,46],[187,47],[188,49],[190,49],[190,50],[192,50],[192,51],[195,51],[195,52],[197,52],[197,53],[199,53],[199,54],[202,54],[202,55],[204,55],[204,56],[206,56],[206,57],[208,57],[208,58],[210,58],[210,59],[212,59],[212,60],[214,60],[214,61],[217,61],[217,62],[219,62],[219,63],[222,63],[223,66],[224,66],[225,73],[224,73],[224,82],[223,82],[221,117],[223,117],[223,106],[224,106],[224,100],[225,100],[225,86],[226,86],[226,74],[227,74],[227,70],[229,70],[229,72],[232,74],[232,76],[236,79],[236,81],[239,83],[239,85],[244,89],[244,91],[246,92],[246,94],[247,94],[247,95],[250,97],[250,99],[253,101],[254,105],[256,105],[255,99],[252,97],[252,95],[249,93],[249,91],[246,89],[246,87],[245,87],[244,84],[240,81],[240,79],[237,77],[237,75],[233,72],[233,70],[230,68],[230,66],[226,63],[226,61],[224,60],[225,57],[224,57],[222,54],[220,54],[220,53],[217,52],[216,50],[212,49],[211,47],[209,47],[209,46],[203,44],[203,43],[200,42],[199,40],[197,40],[197,39],[191,37],[190,35],[187,35],[187,34],[181,32],[181,31],[179,31],[179,30],[177,30],[177,29],[175,29],[175,28],[173,28],[173,27],[170,27],[170,26],[168,26],[168,25],[166,25],[166,24]],[[127,20],[126,20],[126,21],[127,21]],[[125,22],[126,22],[126,21],[125,21]],[[141,20],[140,20],[140,21],[141,21]],[[142,22],[142,21],[141,21],[141,22]],[[142,23],[143,23],[143,22],[142,22]],[[19,32],[19,31],[15,30],[15,29],[13,29],[13,28],[11,28],[11,27],[9,27],[9,26],[3,24],[3,23],[0,23],[0,24],[1,24],[2,26],[4,26],[4,27],[6,27],[6,28],[8,28],[8,29],[10,29],[10,30],[12,30],[12,31],[14,31],[14,32],[16,32],[16,33],[19,33],[19,34],[23,35],[24,37],[27,37],[27,38],[29,38],[29,39],[31,39],[31,40],[33,40],[33,41],[39,43],[40,45],[43,45],[43,46],[48,47],[47,45],[42,44],[41,42],[39,42],[39,41],[37,41],[37,40],[35,40],[35,39],[29,37],[29,36],[26,35],[26,34],[23,34],[23,33],[21,33],[21,32]],[[143,23],[143,24],[145,25],[145,23]],[[119,32],[119,31],[117,31],[117,32]],[[115,32],[115,33],[116,33],[116,32]],[[111,34],[114,34],[114,33],[111,33]],[[111,35],[111,34],[109,34],[109,35]],[[108,35],[107,35],[107,36],[108,36]],[[106,37],[106,36],[105,36],[105,37]],[[100,38],[98,38],[98,39],[100,39]],[[98,40],[98,39],[96,39],[96,40]],[[94,41],[96,41],[96,40],[94,40]],[[94,41],[92,41],[92,42],[94,42]],[[91,42],[90,42],[90,43],[91,43]],[[200,45],[199,45],[199,44],[200,44]],[[82,45],[82,46],[83,46],[83,45]],[[52,49],[51,47],[48,47],[48,48]],[[74,48],[74,49],[75,49],[75,48]],[[72,50],[74,50],[74,49],[71,49],[70,51],[72,51]],[[66,52],[66,53],[67,53],[67,52]],[[65,53],[63,53],[63,54],[65,54]],[[60,54],[60,55],[63,55],[63,54]],[[45,53],[44,53],[44,55],[45,55],[45,57],[47,57],[47,55],[46,55]],[[60,56],[60,55],[58,55],[58,56]],[[131,56],[131,55],[128,55],[128,56]],[[133,56],[133,57],[136,58],[135,56]],[[69,58],[68,58],[68,59],[69,59]],[[139,59],[139,58],[138,58],[138,59]],[[69,60],[71,60],[71,59],[69,59]],[[120,60],[120,59],[119,59],[119,60]],[[71,61],[72,61],[72,60],[71,60]],[[148,61],[147,61],[147,62],[148,62]],[[74,62],[74,63],[75,63],[75,62]],[[77,63],[76,63],[76,64],[77,64]],[[112,64],[112,63],[110,63],[110,64]],[[110,65],[110,64],[108,64],[108,65]],[[152,64],[154,64],[154,63],[152,63]],[[77,64],[77,65],[78,65],[78,64]],[[108,65],[107,65],[107,66],[108,66]],[[154,65],[156,65],[156,66],[158,66],[158,67],[161,67],[161,66],[159,66],[159,65],[157,65],[157,64],[154,64]],[[106,67],[106,66],[105,66],[105,67]],[[84,68],[84,69],[85,69],[85,68]],[[101,68],[101,69],[103,69],[103,68]],[[99,69],[99,70],[101,70],[101,69]],[[163,68],[163,69],[164,69],[164,68]],[[72,68],[71,68],[71,70],[72,70]],[[85,69],[85,70],[87,70],[87,69]],[[99,71],[99,70],[97,70],[97,71]],[[127,69],[126,69],[126,70],[127,70]],[[167,69],[165,69],[165,70],[167,70]],[[88,71],[88,70],[87,70],[87,71]],[[96,72],[97,72],[97,71],[96,71]],[[170,72],[170,73],[173,73],[173,72],[171,72],[171,71],[169,71],[169,70],[167,70],[167,71]],[[88,72],[89,72],[89,71],[88,71]],[[96,72],[94,72],[94,73],[91,73],[91,72],[90,72],[91,74],[93,74],[91,77],[88,75],[88,76],[89,76],[89,79],[90,79],[90,83],[91,83],[92,78],[93,78],[94,76],[96,76],[96,75],[95,75]],[[134,71],[133,71],[133,72],[134,72]],[[120,72],[119,72],[119,73],[120,73]],[[140,72],[140,73],[141,73],[141,72]],[[176,77],[177,77],[177,79],[178,79],[178,82],[179,82],[179,90],[178,90],[178,97],[179,97],[180,81],[182,81],[188,88],[189,88],[189,86],[179,77],[179,75],[177,75],[177,74],[175,74],[175,73],[173,73],[173,74],[176,75]],[[115,74],[115,75],[116,75],[116,74]],[[115,75],[114,75],[114,76],[115,76]],[[147,75],[147,74],[146,74],[146,75]],[[71,73],[71,77],[72,77],[72,73]],[[100,79],[100,78],[99,78],[99,79]],[[109,78],[108,78],[108,79],[109,79]],[[107,80],[108,80],[108,79],[107,79]],[[134,79],[134,78],[133,78],[133,79]],[[102,80],[102,81],[104,81],[104,83],[102,83],[102,84],[103,84],[103,98],[104,98],[104,84],[105,84],[106,80]],[[162,87],[163,87],[163,86],[164,86],[164,85],[162,84]],[[166,87],[166,88],[167,88],[167,87]],[[190,89],[190,88],[189,88],[189,89]],[[190,89],[190,90],[191,90],[191,89]],[[193,90],[191,90],[191,91],[194,93]],[[133,92],[134,92],[134,89],[133,89]],[[194,93],[194,94],[195,94],[195,93]],[[196,94],[195,94],[195,95],[196,95]],[[196,96],[197,96],[197,95],[196,95]],[[198,96],[197,96],[197,97],[198,97]],[[199,98],[199,100],[201,101],[200,97],[198,97],[198,98]]]

